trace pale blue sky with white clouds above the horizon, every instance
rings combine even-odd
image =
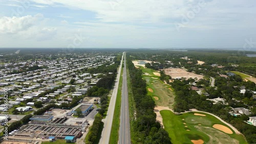
[[[255,0],[0,0],[0,47],[256,47]]]

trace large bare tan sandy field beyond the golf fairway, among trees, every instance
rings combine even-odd
[[[197,75],[197,74],[188,72],[182,68],[166,68],[166,69],[164,69],[164,72],[166,75],[171,76],[173,79],[176,79],[176,78],[186,78],[186,79],[193,78],[193,79],[195,79],[195,78],[197,78],[199,80],[199,79],[203,79],[203,77],[204,77],[203,75]]]

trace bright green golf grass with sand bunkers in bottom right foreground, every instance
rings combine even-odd
[[[236,134],[231,128],[222,123],[215,116],[207,113],[195,112],[206,116],[194,115],[194,112],[175,115],[172,111],[161,110],[164,129],[168,132],[173,143],[193,143],[191,140],[202,139],[204,143],[247,143],[243,135]],[[226,134],[212,128],[220,124],[228,127],[233,134]],[[188,131],[189,130],[189,131]]]

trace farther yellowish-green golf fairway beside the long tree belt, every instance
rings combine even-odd
[[[143,79],[146,80],[147,89],[151,88],[153,90],[153,92],[148,90],[147,94],[152,96],[157,106],[167,106],[172,109],[175,98],[173,88],[159,80],[159,76],[154,75],[154,72],[157,72],[156,70],[151,68],[143,68],[142,66],[140,66],[140,68],[142,69],[143,73],[149,74],[143,75]],[[156,100],[154,97],[157,97],[158,100]]]

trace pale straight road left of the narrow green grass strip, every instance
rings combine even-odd
[[[123,54],[123,56],[124,56],[124,54]],[[109,144],[109,141],[110,141],[110,133],[111,133],[112,123],[113,123],[113,116],[114,116],[114,111],[115,111],[116,96],[117,96],[118,84],[119,84],[119,79],[120,79],[120,74],[121,74],[123,56],[122,56],[121,64],[118,69],[116,83],[115,83],[115,86],[114,86],[114,89],[112,92],[112,96],[110,99],[109,109],[108,109],[108,112],[106,112],[106,118],[102,119],[104,126],[103,126],[103,130],[101,133],[101,138],[99,141],[100,144]]]

